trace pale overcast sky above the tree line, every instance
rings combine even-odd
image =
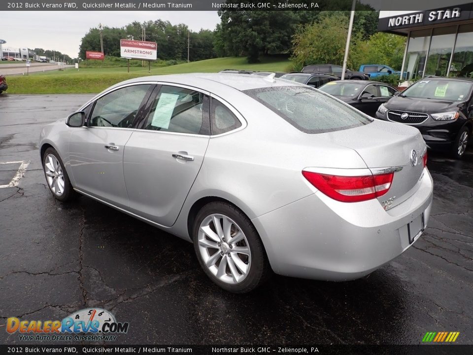
[[[100,23],[122,27],[157,19],[192,31],[214,30],[220,22],[217,11],[8,11],[1,16],[0,39],[5,47],[52,49],[76,58],[81,38]]]

